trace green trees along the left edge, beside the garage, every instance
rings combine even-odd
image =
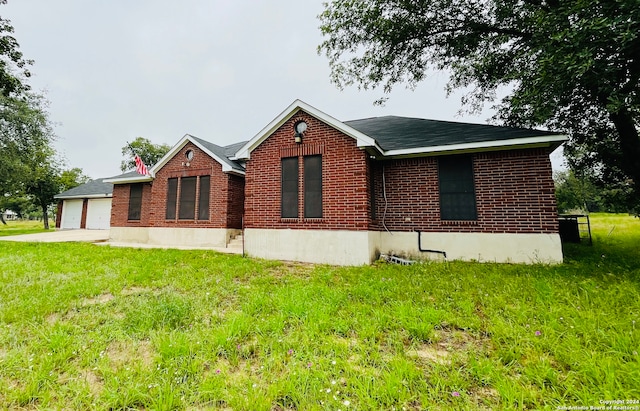
[[[54,149],[48,101],[30,87],[33,61],[23,56],[13,33],[11,22],[0,17],[0,222],[6,224],[5,210],[20,217],[37,210],[48,229],[53,196],[89,178],[79,168],[66,168]]]

